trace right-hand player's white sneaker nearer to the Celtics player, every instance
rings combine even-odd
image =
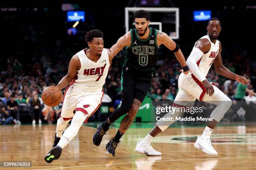
[[[161,152],[157,152],[156,150],[154,150],[152,148],[151,145],[147,144],[147,143],[140,143],[140,142],[137,142],[137,146],[135,148],[135,151],[137,153],[140,153],[140,154],[145,154],[147,156],[161,156],[162,153]]]

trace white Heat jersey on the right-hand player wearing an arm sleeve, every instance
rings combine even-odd
[[[213,42],[211,42],[210,37],[208,35],[201,37],[199,40],[201,40],[203,38],[207,38],[210,41],[211,48],[210,48],[209,52],[202,55],[201,59],[197,61],[197,66],[199,67],[199,70],[202,72],[202,75],[204,75],[206,77],[213,61],[215,60],[215,57],[217,57],[217,55],[218,55],[218,52],[220,49],[220,44],[219,44],[218,40],[215,42],[215,44]],[[196,45],[196,43],[195,43],[195,45]],[[194,48],[195,48],[195,46],[194,46]]]

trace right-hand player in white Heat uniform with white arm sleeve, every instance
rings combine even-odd
[[[221,58],[222,47],[220,41],[217,40],[220,30],[220,20],[218,18],[212,18],[208,21],[207,35],[201,37],[195,43],[191,54],[187,58],[187,65],[190,69],[189,74],[184,75],[184,73],[181,73],[179,76],[179,92],[173,103],[173,107],[191,107],[197,99],[217,105],[210,115],[213,118],[212,121],[207,122],[204,132],[194,144],[195,148],[211,155],[218,155],[218,153],[211,145],[210,135],[215,125],[232,105],[232,101],[218,87],[208,82],[205,76],[214,62],[215,71],[218,74],[241,82],[243,85],[249,83],[245,77],[230,72],[223,65]],[[164,115],[164,118],[180,116],[183,113],[178,111],[169,112]],[[156,126],[151,132],[141,142],[137,143],[135,151],[151,156],[161,155],[160,152],[151,147],[150,143],[157,134],[164,131],[173,122],[175,121],[156,122]]]

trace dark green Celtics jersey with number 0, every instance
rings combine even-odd
[[[157,30],[149,27],[150,33],[146,40],[138,37],[137,30],[131,29],[131,45],[126,47],[124,67],[134,70],[147,71],[156,66],[158,46],[156,43]]]

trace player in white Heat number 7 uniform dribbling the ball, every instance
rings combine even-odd
[[[47,163],[60,157],[62,149],[77,135],[83,122],[87,122],[100,107],[104,94],[102,86],[117,53],[103,48],[103,33],[100,30],[87,32],[85,40],[89,48],[72,57],[67,75],[56,86],[61,90],[71,82],[64,93],[53,149],[44,158]],[[71,119],[71,125],[64,131]]]

